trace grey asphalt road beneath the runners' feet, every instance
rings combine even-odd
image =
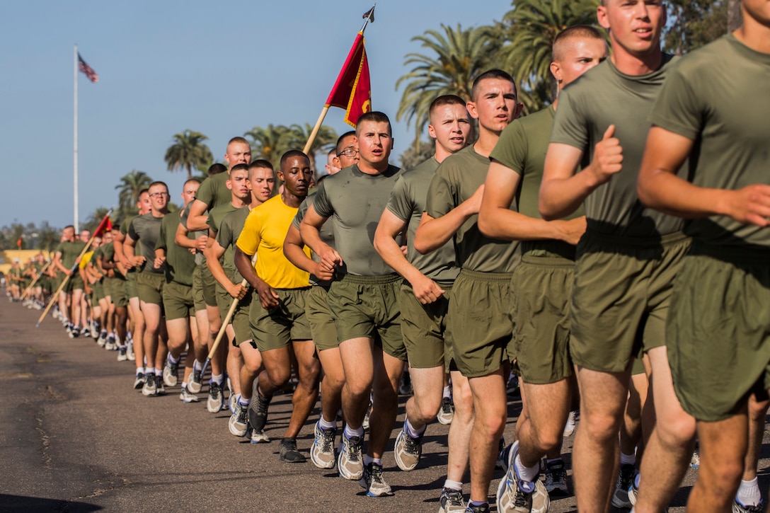
[[[35,328],[39,314],[0,301],[0,511],[438,510],[448,426],[430,424],[415,471],[398,470],[387,453],[385,478],[394,495],[369,498],[356,482],[310,463],[317,407],[298,438],[308,461],[283,463],[277,440],[289,419],[290,395],[271,405],[266,431],[273,442],[250,444],[229,434],[229,412],[210,414],[203,401],[183,404],[179,387],[165,397],[143,397],[132,389],[133,362],[118,362],[92,339],[69,339],[52,317]],[[391,444],[406,398],[400,397]],[[509,404],[509,440],[520,407]],[[573,440],[564,439],[567,466]],[[768,443],[765,435],[765,448]],[[767,467],[763,459],[763,491]],[[491,502],[501,475],[496,471]],[[671,511],[684,511],[695,476],[688,471]],[[571,485],[571,472],[569,479]],[[574,506],[574,497],[551,501],[554,512]]]

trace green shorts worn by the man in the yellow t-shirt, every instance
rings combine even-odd
[[[288,347],[293,340],[313,340],[305,314],[305,297],[310,287],[274,289],[278,306],[265,310],[254,290],[249,311],[252,345],[260,351]]]

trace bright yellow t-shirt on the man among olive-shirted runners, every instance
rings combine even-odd
[[[247,255],[256,253],[256,275],[274,289],[298,289],[310,285],[310,273],[295,267],[283,256],[283,240],[298,209],[273,196],[256,207],[243,224],[236,246]],[[310,257],[310,248],[304,247]]]

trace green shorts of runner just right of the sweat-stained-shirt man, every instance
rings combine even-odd
[[[403,345],[407,348],[409,367],[431,369],[447,365],[444,346],[452,284],[441,283],[440,287],[444,289],[443,296],[433,303],[422,304],[414,297],[411,284],[406,280],[401,283],[398,297],[401,335]]]

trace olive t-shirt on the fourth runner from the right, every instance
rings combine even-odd
[[[448,156],[430,182],[425,211],[434,218],[447,215],[484,185],[488,169],[489,159],[476,153],[473,145]],[[511,210],[516,210],[515,196]],[[487,237],[477,222],[478,214],[470,216],[454,234],[457,265],[482,273],[513,273],[521,260],[518,241]]]

